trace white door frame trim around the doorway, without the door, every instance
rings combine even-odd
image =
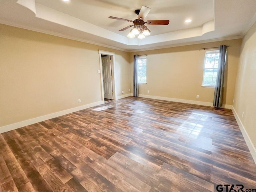
[[[99,60],[100,60],[100,79],[101,79],[101,98],[102,101],[104,101],[104,87],[103,87],[103,76],[102,76],[102,60],[101,60],[101,55],[107,55],[110,56],[111,58],[111,73],[112,73],[112,90],[113,90],[113,100],[116,100],[116,78],[115,78],[115,53],[114,52],[109,52],[109,51],[104,51],[104,50],[99,50]]]

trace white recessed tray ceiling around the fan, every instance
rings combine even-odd
[[[150,7],[150,36],[129,39],[134,10]],[[185,23],[192,19],[191,23]],[[242,38],[256,20],[256,0],[0,0],[0,23],[129,52]]]

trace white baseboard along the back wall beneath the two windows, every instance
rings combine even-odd
[[[176,98],[170,98],[170,97],[160,97],[160,96],[142,95],[142,94],[139,94],[139,97],[149,98],[149,99],[159,99],[159,100],[165,100],[165,101],[173,101],[173,102],[180,102],[180,103],[188,103],[188,104],[196,104],[196,105],[203,105],[203,106],[211,106],[212,107],[212,103],[203,102],[203,101],[176,99]],[[232,105],[223,105],[222,107],[226,108],[226,109],[232,109]]]

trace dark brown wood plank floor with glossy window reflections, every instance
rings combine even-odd
[[[231,110],[128,97],[0,134],[1,192],[212,192],[218,184],[256,188]]]

